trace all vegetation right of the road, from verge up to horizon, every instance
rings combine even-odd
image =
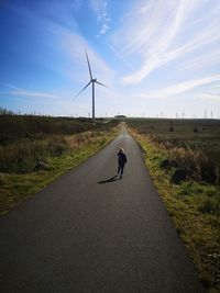
[[[127,123],[207,292],[220,292],[220,121]]]

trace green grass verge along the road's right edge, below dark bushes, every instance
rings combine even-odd
[[[146,135],[132,135],[145,150],[144,157],[153,182],[173,218],[207,292],[220,292],[220,189],[202,182],[172,184],[173,170],[160,167],[167,158],[165,149]]]

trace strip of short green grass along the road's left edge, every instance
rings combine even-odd
[[[91,155],[106,146],[116,136],[116,129],[105,135],[94,137],[74,151],[69,150],[62,156],[48,157],[46,170],[24,174],[0,173],[0,215],[45,188],[67,170],[80,165]]]

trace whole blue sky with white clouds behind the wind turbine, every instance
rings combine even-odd
[[[220,119],[219,0],[1,0],[0,106]]]

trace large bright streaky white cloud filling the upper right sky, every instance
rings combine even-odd
[[[124,83],[140,83],[151,72],[167,64],[195,54],[202,59],[207,47],[212,50],[220,40],[217,1],[205,0],[139,1],[112,36],[116,50],[129,60],[136,60],[136,70],[122,77]],[[204,15],[204,19],[202,16]],[[220,56],[220,49],[215,49]]]

